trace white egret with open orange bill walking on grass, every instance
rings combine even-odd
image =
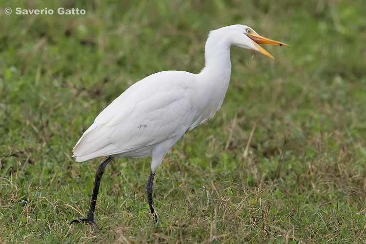
[[[82,162],[107,156],[98,165],[89,212],[72,223],[96,224],[95,203],[105,166],[113,158],[152,157],[146,185],[150,211],[157,221],[152,197],[157,168],[169,149],[220,109],[230,81],[230,47],[252,49],[273,59],[258,44],[287,46],[259,36],[245,25],[210,31],[204,49],[205,67],[199,74],[163,71],[131,85],[109,104],[76,143],[73,157]]]

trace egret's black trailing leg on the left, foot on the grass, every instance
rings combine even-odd
[[[70,225],[73,223],[87,223],[87,224],[93,224],[96,225],[94,221],[94,212],[95,212],[95,203],[97,203],[97,197],[98,197],[98,191],[99,191],[99,185],[101,184],[101,179],[104,173],[105,166],[112,160],[111,157],[106,158],[102,163],[100,163],[97,167],[97,171],[95,172],[95,181],[94,181],[94,188],[93,188],[93,194],[90,201],[90,207],[89,212],[86,218],[81,219],[75,219],[70,222]]]

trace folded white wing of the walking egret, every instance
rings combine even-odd
[[[109,104],[74,147],[76,160],[128,152],[139,157],[140,149],[145,157],[147,147],[182,136],[194,116],[185,82],[193,81],[193,74],[175,72],[176,77],[169,72],[147,77]]]

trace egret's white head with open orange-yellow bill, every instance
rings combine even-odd
[[[259,44],[267,44],[267,45],[277,45],[277,46],[286,46],[290,47],[289,45],[279,42],[279,41],[272,41],[265,37],[262,37],[257,34],[252,28],[246,25],[235,24],[220,28],[213,32],[220,31],[224,32],[222,34],[226,35],[229,38],[228,42],[230,46],[238,46],[247,49],[252,49],[257,52],[260,52],[271,59],[274,59],[272,55],[270,55],[267,51],[263,49]],[[211,33],[210,33],[211,34]],[[213,34],[213,33],[212,33]]]

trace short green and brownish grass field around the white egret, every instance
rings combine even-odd
[[[365,9],[364,0],[2,3],[0,242],[366,243]],[[102,160],[70,157],[96,115],[147,75],[200,72],[208,31],[237,23],[291,49],[265,46],[272,61],[232,48],[221,110],[157,171],[160,223],[144,196],[146,158],[107,166],[102,232],[68,226],[85,216]]]

